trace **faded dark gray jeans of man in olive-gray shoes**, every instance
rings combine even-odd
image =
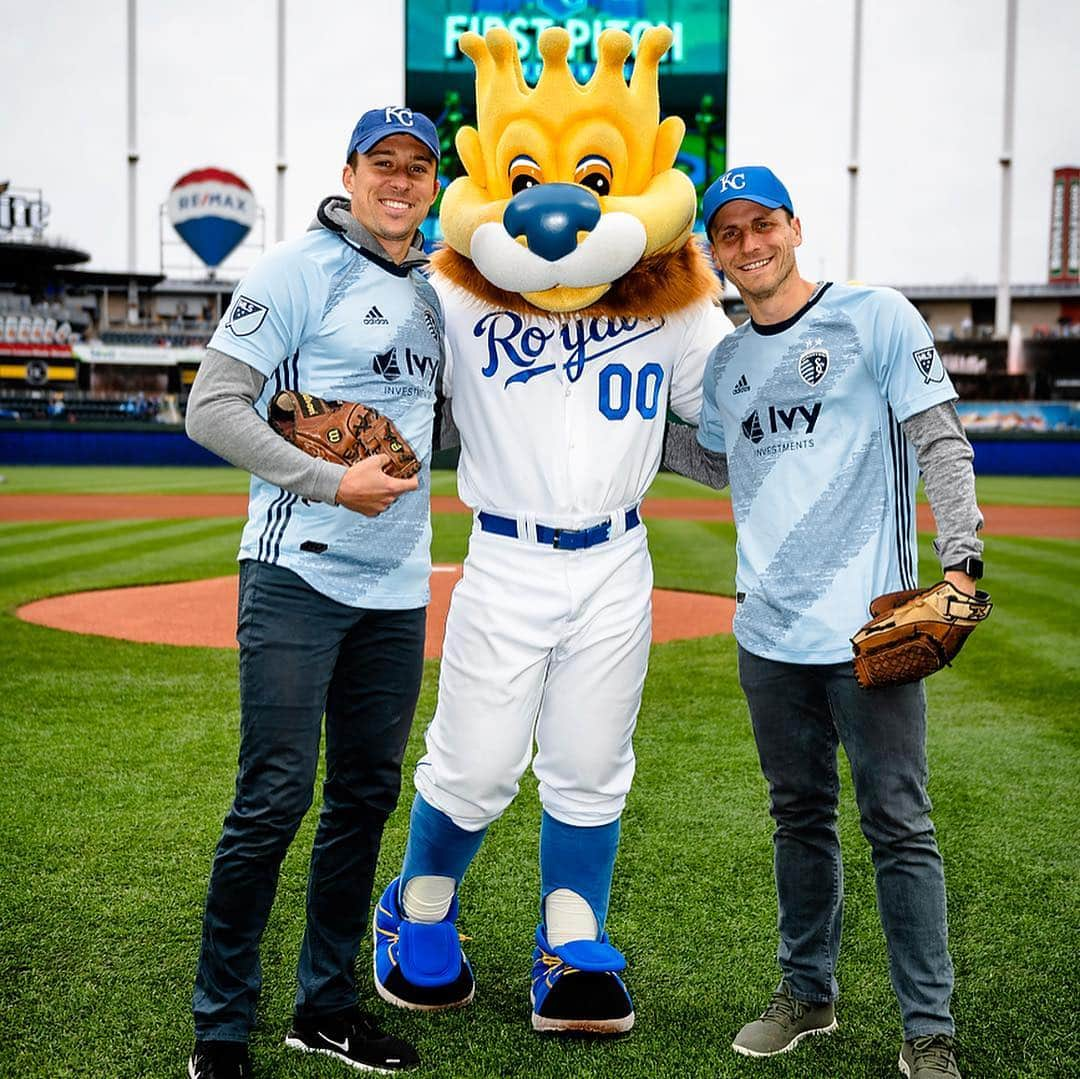
[[[927,796],[921,683],[862,689],[851,663],[779,663],[739,649],[761,771],[769,782],[778,958],[801,1000],[837,996],[843,868],[836,827],[837,744],[851,763],[904,1037],[953,1034],[945,876]]]

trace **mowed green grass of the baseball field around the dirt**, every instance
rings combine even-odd
[[[4,493],[242,491],[231,470],[2,469]],[[435,490],[453,493],[453,477]],[[703,495],[675,477],[654,494]],[[986,502],[1080,504],[1076,481],[987,478]],[[434,555],[460,561],[468,518],[438,515]],[[190,1046],[201,906],[237,755],[237,660],[25,624],[42,595],[233,571],[237,520],[0,525],[0,1076],[168,1077]],[[729,592],[733,529],[649,524],[657,584]],[[923,577],[934,574],[923,538]],[[929,683],[930,791],[949,888],[954,1011],[969,1077],[1078,1074],[1080,542],[987,537],[994,617]],[[379,880],[400,864],[408,777],[434,707],[429,664]],[[609,927],[630,959],[637,1026],[610,1043],[528,1026],[537,907],[535,784],[495,825],[463,893],[476,1001],[419,1017],[374,1003],[415,1039],[422,1075],[885,1077],[900,1021],[850,783],[840,1031],[751,1062],[731,1036],[777,980],[771,822],[728,637],[653,649]],[[286,859],[267,931],[257,1075],[343,1077],[282,1046],[302,931],[314,811]],[[361,982],[370,992],[369,954]]]

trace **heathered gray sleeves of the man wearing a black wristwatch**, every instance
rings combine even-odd
[[[969,556],[981,557],[983,541],[978,530],[983,515],[975,502],[974,451],[951,401],[916,413],[902,424],[915,447],[922,473],[927,500],[937,525],[934,551],[942,567],[954,566]],[[728,484],[725,454],[705,449],[697,439],[698,429],[671,424],[664,436],[663,466],[719,490]]]

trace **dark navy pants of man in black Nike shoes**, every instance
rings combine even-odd
[[[347,607],[280,566],[240,566],[240,767],[211,872],[192,1009],[195,1037],[246,1041],[259,940],[311,806],[323,713],[326,780],[308,876],[296,1011],[356,1001],[382,826],[423,673],[424,609]]]

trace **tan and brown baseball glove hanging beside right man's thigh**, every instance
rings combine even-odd
[[[870,620],[851,638],[859,684],[901,686],[940,671],[993,607],[987,593],[970,596],[948,581],[878,596]]]

